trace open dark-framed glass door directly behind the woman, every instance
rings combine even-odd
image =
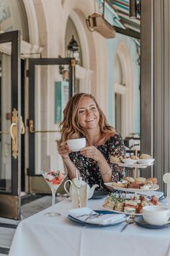
[[[48,192],[43,171],[58,170],[58,124],[75,91],[75,59],[29,59],[29,186],[30,193]]]

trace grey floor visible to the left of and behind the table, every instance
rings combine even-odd
[[[25,197],[22,205],[22,219],[32,216],[38,213],[40,210],[48,208],[51,205],[51,196],[39,196],[40,198],[35,198],[38,196]],[[59,202],[66,197],[58,195],[55,202]],[[31,201],[30,201],[31,200]],[[12,244],[12,239],[14,232],[17,229],[17,224],[19,221],[10,220],[8,218],[0,218],[0,256],[6,256],[9,254],[9,249]],[[24,256],[24,255],[23,255]]]

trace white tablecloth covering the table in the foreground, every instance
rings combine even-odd
[[[102,209],[103,199],[87,206]],[[67,218],[70,198],[55,205],[61,217],[44,216],[50,208],[19,223],[9,256],[170,256],[170,225],[167,229],[144,229],[135,223],[108,227],[79,226]]]

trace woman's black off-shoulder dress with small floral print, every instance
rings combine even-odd
[[[124,176],[124,168],[118,166],[115,163],[110,162],[110,155],[114,156],[125,156],[125,145],[120,134],[112,135],[109,139],[103,144],[96,146],[97,149],[104,155],[107,163],[112,169],[112,181],[117,182],[122,179]],[[97,161],[94,161],[91,158],[86,158],[84,155],[78,152],[71,152],[69,154],[71,161],[74,163],[76,168],[79,170],[81,178],[92,187],[94,184],[98,184],[97,190],[108,191],[107,187],[104,185],[102,180],[102,175],[99,171],[99,166]]]

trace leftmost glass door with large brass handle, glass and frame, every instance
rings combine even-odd
[[[20,218],[20,33],[0,34],[0,217]]]

